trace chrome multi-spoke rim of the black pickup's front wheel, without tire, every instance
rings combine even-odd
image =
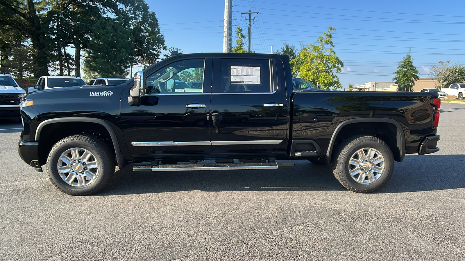
[[[61,154],[57,168],[61,179],[75,187],[92,183],[99,175],[100,163],[88,150],[72,148]]]

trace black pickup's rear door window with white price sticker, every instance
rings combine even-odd
[[[221,59],[221,92],[273,92],[271,67],[269,59]]]

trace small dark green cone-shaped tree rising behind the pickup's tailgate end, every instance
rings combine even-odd
[[[418,69],[413,65],[413,59],[408,51],[407,56],[399,62],[397,71],[394,72],[395,77],[393,81],[398,85],[397,91],[413,91],[415,80],[418,80]]]

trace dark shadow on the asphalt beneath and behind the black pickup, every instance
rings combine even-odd
[[[287,170],[223,170],[133,172],[133,164],[118,170],[113,183],[98,195],[173,191],[307,191],[346,190],[331,166],[294,161]],[[394,174],[375,193],[400,193],[465,187],[464,155],[412,155],[396,162]]]

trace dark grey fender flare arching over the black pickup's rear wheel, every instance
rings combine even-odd
[[[399,162],[404,160],[404,157],[407,151],[405,150],[405,133],[404,133],[404,129],[402,128],[402,125],[397,120],[390,119],[390,118],[369,117],[369,118],[348,119],[348,120],[341,122],[336,127],[336,129],[332,133],[332,137],[331,137],[331,140],[328,146],[328,151],[326,152],[326,157],[328,158],[329,161],[331,161],[332,150],[334,149],[333,148],[334,143],[336,142],[336,137],[338,137],[339,131],[345,125],[353,124],[353,123],[365,123],[365,122],[384,122],[384,123],[394,124],[394,126],[396,126],[397,128],[396,139],[397,139],[397,148],[399,149],[399,153],[400,153]]]

